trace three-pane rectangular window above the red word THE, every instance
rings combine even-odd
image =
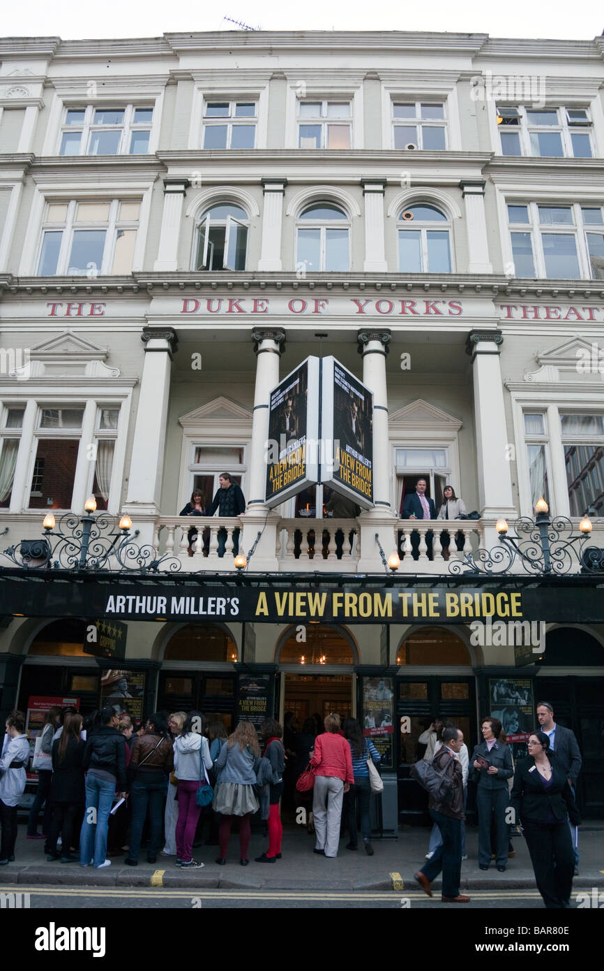
[[[141,200],[49,203],[38,276],[132,272]]]

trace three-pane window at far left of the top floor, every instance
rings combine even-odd
[[[142,155],[149,150],[153,108],[67,108],[59,155]]]

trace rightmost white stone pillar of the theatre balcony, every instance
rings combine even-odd
[[[472,357],[478,498],[483,518],[515,517],[510,450],[499,366],[500,330],[471,330],[466,351]]]

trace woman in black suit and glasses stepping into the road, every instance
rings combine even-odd
[[[575,853],[568,818],[579,825],[579,812],[566,774],[550,752],[549,736],[533,732],[528,757],[516,766],[512,806],[522,822],[539,893],[548,909],[570,907]]]

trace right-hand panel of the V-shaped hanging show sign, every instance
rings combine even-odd
[[[371,509],[373,395],[334,357],[321,361],[321,389],[321,480]]]

